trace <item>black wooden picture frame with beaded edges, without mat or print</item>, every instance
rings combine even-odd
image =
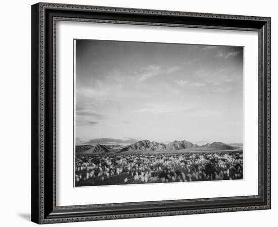
[[[250,30],[259,33],[259,194],[56,206],[56,21]],[[31,220],[71,222],[270,209],[270,18],[38,3],[31,7]]]

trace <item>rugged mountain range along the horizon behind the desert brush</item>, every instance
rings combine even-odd
[[[127,146],[113,144],[113,145],[80,145],[75,146],[76,154],[100,154],[100,153],[146,153],[146,152],[182,152],[182,151],[222,151],[235,150],[238,146],[233,146],[221,142],[207,143],[203,146],[198,146],[189,141],[175,140],[173,142],[164,144],[150,140],[136,141]]]

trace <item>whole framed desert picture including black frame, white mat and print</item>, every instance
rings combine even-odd
[[[31,220],[270,209],[270,18],[31,6]]]

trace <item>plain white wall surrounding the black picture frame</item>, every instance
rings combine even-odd
[[[52,2],[52,1],[50,1]],[[64,0],[56,3],[146,8],[189,12],[268,16],[272,19],[272,209],[216,214],[152,217],[97,222],[63,223],[60,226],[262,226],[275,223],[278,199],[275,165],[277,144],[278,15],[275,1],[128,1]],[[34,226],[30,222],[30,5],[36,1],[5,1],[1,4],[1,187],[2,226]]]

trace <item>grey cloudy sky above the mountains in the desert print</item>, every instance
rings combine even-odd
[[[243,142],[243,47],[76,40],[76,145]]]

